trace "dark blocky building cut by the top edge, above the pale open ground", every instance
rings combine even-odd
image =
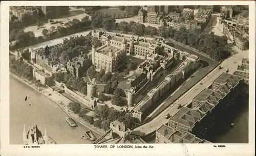
[[[41,10],[49,19],[69,15],[69,6],[41,6]]]

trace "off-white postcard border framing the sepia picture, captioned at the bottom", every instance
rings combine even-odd
[[[153,149],[95,149],[87,145],[41,145],[23,148],[9,145],[9,6],[129,6],[129,5],[249,5],[249,143],[225,144],[153,144]],[[255,119],[255,2],[254,1],[4,1],[1,3],[1,155],[254,155]],[[133,144],[135,146],[135,144]],[[115,144],[117,146],[117,144]]]

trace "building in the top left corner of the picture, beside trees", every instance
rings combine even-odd
[[[10,12],[18,18],[22,27],[35,24],[39,18],[38,10],[33,6],[11,6]]]

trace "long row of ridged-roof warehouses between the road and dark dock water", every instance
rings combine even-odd
[[[202,138],[215,120],[221,120],[220,113],[227,111],[239,95],[243,77],[222,73],[211,85],[198,94],[191,103],[191,109],[183,107],[169,119],[167,125],[180,132],[189,132]]]

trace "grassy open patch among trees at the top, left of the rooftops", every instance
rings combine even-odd
[[[126,11],[122,11],[118,8],[100,9],[98,12],[102,13],[103,15],[108,15],[115,18],[124,18],[128,16]]]

